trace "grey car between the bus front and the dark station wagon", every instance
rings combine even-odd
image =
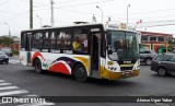
[[[151,64],[152,59],[158,56],[158,54],[152,49],[140,49],[140,62],[145,64]]]

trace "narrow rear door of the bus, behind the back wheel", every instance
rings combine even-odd
[[[26,60],[27,60],[27,64],[31,63],[31,39],[32,39],[32,33],[27,33],[27,37],[26,37]]]

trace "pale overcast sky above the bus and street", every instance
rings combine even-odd
[[[50,0],[33,0],[33,28],[50,25]],[[174,0],[54,0],[55,26],[72,25],[73,22],[128,23],[138,31],[175,35]],[[96,5],[98,8],[96,8]],[[129,7],[130,5],[130,7]],[[128,12],[127,12],[128,10]],[[102,15],[103,13],[103,15]],[[38,16],[36,16],[38,15]],[[140,22],[137,24],[137,22]],[[7,23],[7,24],[4,24]],[[20,36],[30,30],[30,0],[0,0],[0,36]]]

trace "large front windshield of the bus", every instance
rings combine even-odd
[[[139,58],[138,33],[107,31],[107,48],[112,60],[136,60]]]

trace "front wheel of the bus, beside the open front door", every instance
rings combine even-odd
[[[73,74],[74,74],[75,80],[80,82],[85,82],[88,80],[86,69],[81,63],[75,66]]]

